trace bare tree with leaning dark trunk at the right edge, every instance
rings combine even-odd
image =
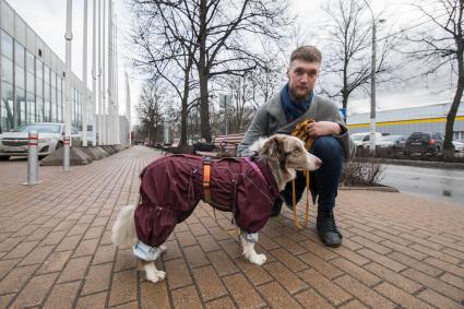
[[[443,143],[443,154],[453,156],[454,120],[464,91],[464,1],[428,0],[413,5],[430,21],[433,27],[423,26],[415,34],[406,35],[406,40],[416,44],[416,47],[406,54],[424,64],[426,75],[433,74],[449,64],[457,76],[453,102],[447,116]]]

